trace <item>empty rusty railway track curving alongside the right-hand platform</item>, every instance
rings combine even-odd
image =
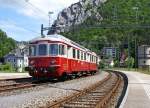
[[[48,104],[47,108],[108,108],[116,107],[118,94],[121,95],[123,77],[119,73],[110,73],[101,82],[65,99]]]

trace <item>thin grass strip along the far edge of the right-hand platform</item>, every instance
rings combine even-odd
[[[132,71],[132,72],[140,72],[143,74],[148,74],[150,75],[150,69],[141,69],[141,68],[112,68],[113,70],[123,70],[123,71]]]

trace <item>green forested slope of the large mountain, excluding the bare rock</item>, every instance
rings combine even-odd
[[[122,50],[127,45],[133,58],[138,45],[150,44],[150,30],[143,28],[150,24],[149,0],[108,0],[97,7],[97,12],[103,17],[102,21],[95,20],[93,13],[84,23],[62,34],[97,53],[104,46]],[[103,28],[90,28],[95,25]]]

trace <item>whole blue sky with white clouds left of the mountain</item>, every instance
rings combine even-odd
[[[0,0],[0,29],[17,41],[40,36],[41,24],[49,26],[58,13],[79,0]],[[46,32],[45,32],[46,34]]]

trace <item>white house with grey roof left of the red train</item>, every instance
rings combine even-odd
[[[28,47],[18,46],[9,54],[4,56],[5,63],[10,63],[17,72],[22,72],[24,67],[28,66]]]

